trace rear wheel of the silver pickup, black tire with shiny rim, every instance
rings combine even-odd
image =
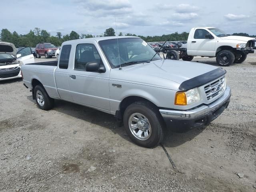
[[[38,98],[39,97],[38,94],[42,96],[44,102],[40,102],[40,99]],[[37,85],[34,88],[34,97],[36,99],[36,104],[40,109],[50,110],[54,107],[54,99],[49,97],[48,93],[46,92],[46,90],[42,85]]]

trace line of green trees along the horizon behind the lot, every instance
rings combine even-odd
[[[138,37],[142,38],[146,42],[162,42],[162,41],[184,41],[188,39],[188,34],[187,32],[182,32],[182,33],[172,33],[172,34],[167,34],[167,35],[162,35],[162,36],[140,36]],[[104,34],[102,35],[97,35],[96,37],[101,37],[101,36],[115,36],[115,30],[113,28],[108,28],[105,30]],[[123,34],[122,32],[118,33],[118,36],[137,36],[136,34],[131,34],[131,33],[126,33]],[[249,36],[246,33],[234,33],[233,35],[238,35],[238,36],[248,36],[248,37],[256,37],[254,36]],[[62,35],[61,32],[57,32],[55,36],[51,35],[49,32],[46,30],[41,30],[40,28],[36,27],[34,30],[30,30],[28,34],[22,35],[18,34],[16,31],[10,32],[8,29],[2,29],[0,33],[0,40],[4,42],[11,42],[13,43],[16,47],[35,47],[36,44],[40,42],[50,42],[54,44],[55,46],[60,46],[62,42],[68,41],[68,40],[75,40],[75,39],[83,39],[83,38],[91,38],[95,37],[92,34],[78,34],[75,31],[71,31],[70,34]]]

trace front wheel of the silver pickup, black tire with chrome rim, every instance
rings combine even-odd
[[[140,128],[142,128],[141,123],[138,124],[138,121],[137,123],[136,121],[132,121],[132,122],[135,122],[136,125],[138,125],[137,127],[140,126],[140,128],[134,129],[134,132],[131,130],[129,126],[129,122],[130,122],[129,119],[132,118],[134,114],[142,114],[142,116],[144,116],[144,118],[139,118],[139,116],[137,116],[137,120],[142,122],[149,122],[149,124],[146,123],[147,127],[149,127],[148,125],[150,125],[151,127],[151,131],[147,130],[148,138],[145,136],[145,132],[142,133],[144,135],[144,138],[138,139],[136,138],[136,136],[134,136],[135,132],[138,133],[139,131],[141,131]],[[158,144],[163,140],[163,136],[164,136],[163,131],[165,128],[164,120],[162,119],[162,116],[160,115],[158,109],[150,102],[140,101],[140,102],[134,102],[133,104],[130,104],[124,111],[123,121],[124,121],[124,128],[128,136],[131,138],[131,140],[134,143],[136,143],[139,146],[153,148],[158,146]]]

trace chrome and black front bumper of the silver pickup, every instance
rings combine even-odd
[[[224,94],[210,104],[202,104],[190,110],[160,109],[167,128],[175,131],[190,130],[194,127],[208,125],[228,107],[231,89],[226,87]]]

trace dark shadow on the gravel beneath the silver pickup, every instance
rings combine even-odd
[[[72,116],[74,118],[78,118],[85,122],[90,122],[92,124],[102,126],[111,130],[114,134],[118,134],[120,137],[128,140],[129,142],[132,142],[124,130],[122,121],[117,121],[117,119],[111,114],[106,114],[92,108],[66,102],[63,100],[55,100],[55,106],[52,110]],[[186,143],[187,141],[192,140],[195,136],[200,134],[202,130],[202,128],[198,128],[189,130],[187,132],[172,132],[170,129],[168,129],[165,132],[163,144],[164,146],[170,148],[179,146]]]

